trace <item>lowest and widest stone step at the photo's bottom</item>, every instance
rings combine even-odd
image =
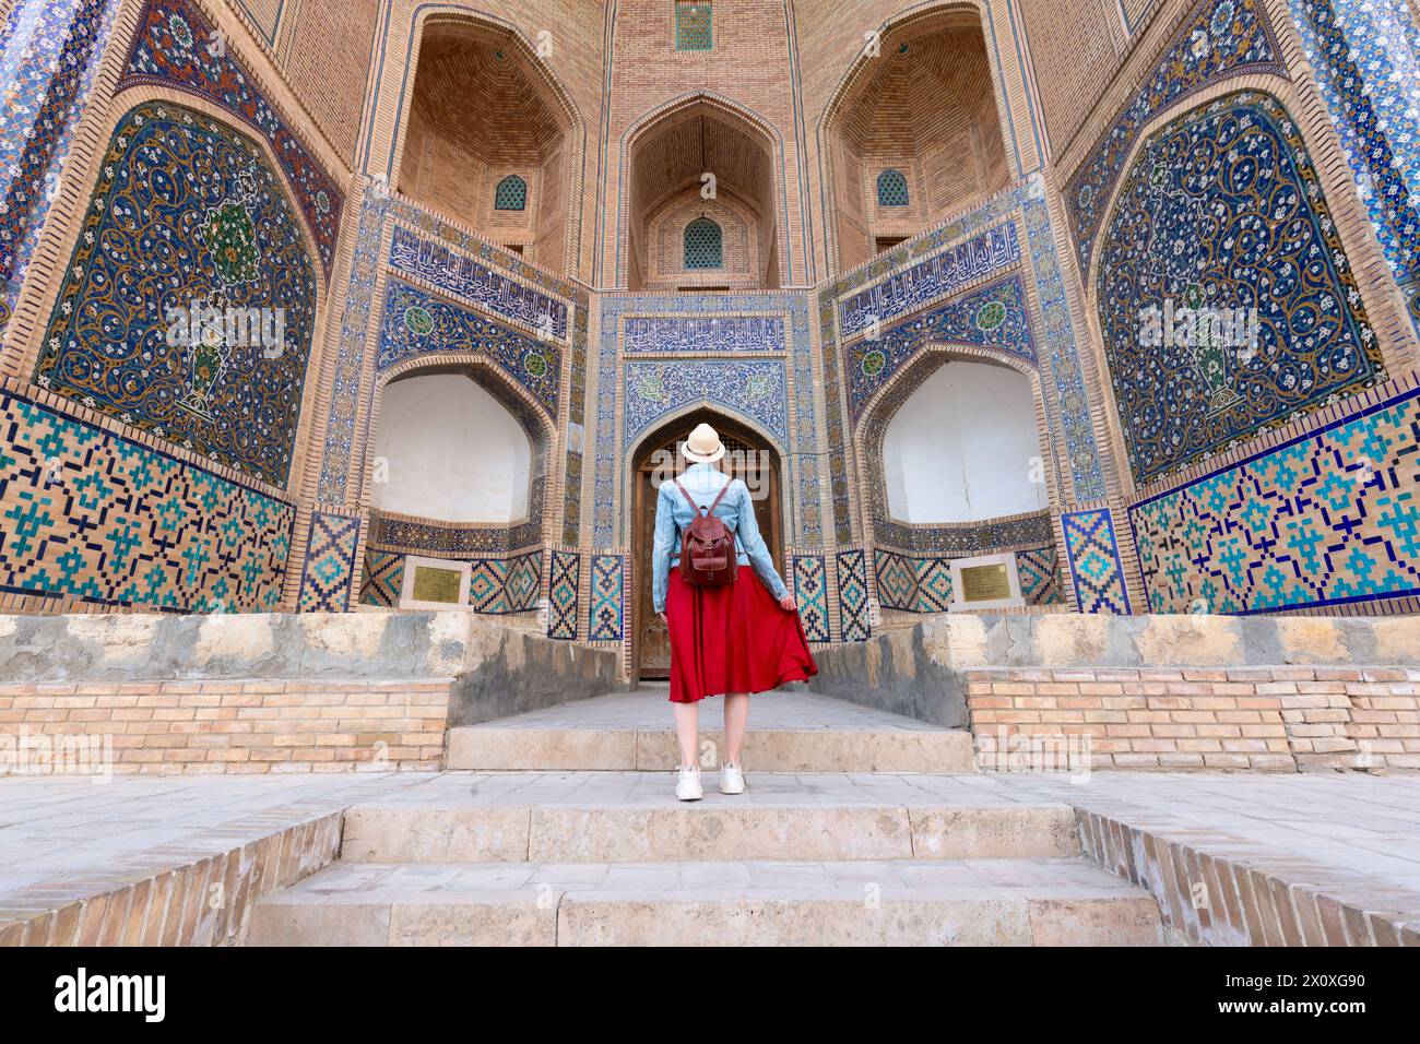
[[[248,946],[1152,946],[1159,906],[1082,859],[335,864]]]

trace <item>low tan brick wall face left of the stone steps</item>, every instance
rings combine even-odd
[[[437,770],[447,680],[0,685],[0,741],[104,737],[115,773]]]

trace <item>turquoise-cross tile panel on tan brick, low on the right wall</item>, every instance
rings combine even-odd
[[[1420,592],[1420,391],[1129,511],[1153,612]]]

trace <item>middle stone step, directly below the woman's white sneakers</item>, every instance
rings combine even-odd
[[[670,773],[444,774],[345,812],[341,858],[364,864],[966,859],[1081,854],[1075,812],[980,797],[977,777],[704,776],[676,801]]]

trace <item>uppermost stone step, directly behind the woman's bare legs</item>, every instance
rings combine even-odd
[[[807,692],[751,697],[741,761],[757,771],[968,773],[971,734]],[[665,687],[596,696],[449,730],[456,770],[673,768],[680,763]],[[717,764],[721,702],[701,705],[700,751]]]

